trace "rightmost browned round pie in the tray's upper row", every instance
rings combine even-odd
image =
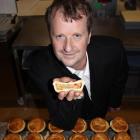
[[[128,123],[122,117],[115,117],[113,120],[110,121],[110,127],[115,132],[127,132],[128,130]]]

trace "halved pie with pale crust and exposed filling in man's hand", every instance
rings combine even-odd
[[[60,82],[60,81],[54,81],[53,82],[54,90],[56,92],[62,92],[62,91],[82,91],[84,87],[84,81],[83,80],[77,80],[74,82]]]

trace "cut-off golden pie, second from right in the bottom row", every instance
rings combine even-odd
[[[91,140],[110,140],[110,138],[105,133],[96,133],[91,137]]]

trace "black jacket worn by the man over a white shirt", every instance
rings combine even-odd
[[[63,129],[73,128],[78,117],[92,119],[104,117],[108,107],[121,104],[127,80],[128,66],[120,40],[111,37],[94,37],[87,49],[90,69],[91,98],[60,101],[52,86],[52,79],[72,74],[53,53],[52,46],[35,51],[28,57],[29,75],[46,98],[52,123]]]

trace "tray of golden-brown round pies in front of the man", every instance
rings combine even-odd
[[[132,140],[132,137],[127,121],[119,116],[110,121],[101,117],[90,121],[79,118],[69,131],[36,117],[29,121],[10,119],[2,140]]]

